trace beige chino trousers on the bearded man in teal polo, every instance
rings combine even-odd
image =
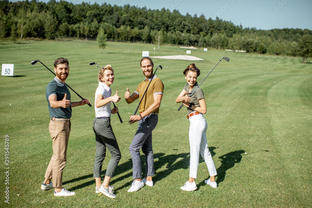
[[[53,187],[62,188],[63,169],[66,166],[66,153],[71,132],[70,121],[50,121],[53,155],[46,169],[45,178],[53,179]]]

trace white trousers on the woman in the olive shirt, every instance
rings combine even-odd
[[[210,176],[217,175],[217,170],[208,150],[207,144],[207,121],[202,114],[193,115],[188,119],[190,121],[190,131],[188,133],[190,141],[190,176],[197,178],[197,169],[199,163],[199,153],[206,162]]]

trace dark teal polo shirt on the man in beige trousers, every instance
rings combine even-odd
[[[68,108],[52,108],[50,105],[49,97],[53,94],[56,95],[56,100],[62,100],[67,94],[68,100],[71,100],[71,93],[66,84],[58,80],[56,77],[46,87],[46,100],[48,101],[48,108],[50,118],[71,118],[71,105]]]

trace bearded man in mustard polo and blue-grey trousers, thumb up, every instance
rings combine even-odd
[[[159,107],[163,97],[163,82],[157,77],[157,75],[153,74],[154,64],[152,59],[149,57],[143,57],[140,65],[146,78],[139,84],[131,96],[128,88],[127,92],[124,94],[127,103],[132,103],[138,98],[141,100],[146,87],[149,85],[149,82],[151,82],[144,95],[144,99],[140,104],[140,114],[131,116],[129,120],[130,124],[139,121],[139,126],[129,147],[132,158],[132,177],[134,178],[134,181],[128,192],[138,191],[145,184],[148,186],[154,185],[152,181],[152,176],[155,175],[152,131],[158,122]],[[145,154],[145,178],[142,180],[140,148],[142,148],[142,152]]]

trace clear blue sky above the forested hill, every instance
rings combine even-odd
[[[15,1],[15,0],[13,0]],[[41,1],[41,0],[39,0]],[[57,0],[58,1],[58,0]],[[74,4],[81,4],[83,0],[67,0]],[[48,2],[44,0],[43,2]],[[144,7],[150,9],[176,9],[182,15],[189,13],[203,14],[206,19],[218,16],[222,20],[231,21],[235,25],[255,27],[261,30],[274,28],[300,28],[312,30],[312,0],[89,0],[90,4]]]

